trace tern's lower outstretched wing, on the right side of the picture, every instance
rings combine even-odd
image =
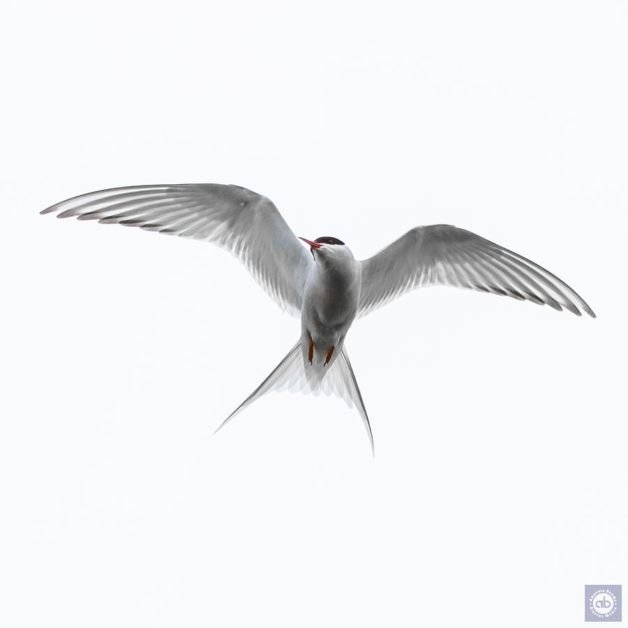
[[[362,264],[358,316],[424,285],[450,285],[566,308],[595,318],[557,276],[525,257],[451,225],[415,227]]]

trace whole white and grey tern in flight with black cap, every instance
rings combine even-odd
[[[453,225],[414,227],[360,261],[336,237],[297,238],[269,198],[241,186],[109,188],[63,200],[40,214],[214,243],[237,257],[283,311],[300,318],[297,342],[216,431],[271,390],[323,392],[356,406],[375,455],[345,338],[354,320],[419,287],[467,288],[595,318],[550,271]]]

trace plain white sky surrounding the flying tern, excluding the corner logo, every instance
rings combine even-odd
[[[575,626],[628,585],[627,7],[5,2],[0,623]],[[39,216],[234,183],[368,257],[451,223],[597,320],[448,288],[354,324],[375,435],[271,394],[218,248]]]

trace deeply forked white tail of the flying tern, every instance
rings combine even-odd
[[[220,424],[216,432],[233,419],[236,414],[244,410],[247,405],[250,405],[255,399],[260,398],[271,390],[311,392],[315,395],[320,394],[322,391],[327,395],[333,393],[342,397],[350,408],[353,408],[353,404],[355,404],[368,433],[371,451],[373,451],[373,456],[375,456],[371,424],[368,422],[364,401],[362,401],[346,347],[343,346],[341,354],[336,358],[334,364],[331,364],[329,373],[324,376],[322,382],[315,387],[311,387],[311,384],[306,380],[303,355],[301,354],[301,342],[297,342],[287,353],[286,357],[276,366],[274,371]]]

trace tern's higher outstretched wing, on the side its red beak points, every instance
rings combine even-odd
[[[41,214],[76,216],[213,242],[235,255],[288,313],[298,316],[313,263],[274,204],[239,186],[133,186],[61,201]]]

